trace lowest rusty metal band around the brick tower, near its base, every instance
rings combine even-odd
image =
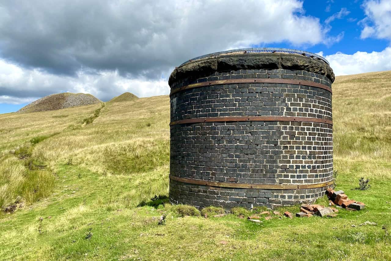
[[[170,175],[171,180],[178,182],[201,185],[201,186],[211,186],[211,187],[229,187],[229,188],[238,188],[238,189],[317,189],[321,187],[327,187],[334,184],[334,180],[315,183],[315,184],[259,184],[259,183],[228,183],[228,182],[215,182],[210,180],[195,180],[191,178],[179,178],[176,176]]]

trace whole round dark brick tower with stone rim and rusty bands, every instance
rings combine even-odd
[[[326,59],[239,49],[172,72],[170,201],[207,207],[313,202],[333,181]]]

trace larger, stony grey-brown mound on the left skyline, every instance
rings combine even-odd
[[[61,94],[48,95],[33,101],[17,112],[45,112],[101,102],[102,101],[91,94],[73,94],[70,92],[63,92]]]

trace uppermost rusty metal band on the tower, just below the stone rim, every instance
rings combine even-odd
[[[269,79],[250,78],[250,79],[228,79],[228,80],[218,80],[218,81],[204,81],[202,83],[192,83],[192,84],[183,86],[181,88],[171,90],[170,95],[172,95],[176,92],[180,92],[180,91],[191,89],[191,88],[210,86],[210,85],[235,84],[235,83],[282,83],[282,84],[305,85],[305,86],[312,86],[312,87],[321,88],[321,89],[327,90],[332,93],[332,90],[329,86],[321,84],[321,83],[314,83],[313,81],[302,81],[302,80],[292,80],[292,79],[273,79],[273,78],[269,78]]]

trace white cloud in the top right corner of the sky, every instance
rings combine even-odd
[[[361,39],[375,37],[391,40],[391,1],[367,1],[363,4],[366,17],[360,21],[364,26]]]

